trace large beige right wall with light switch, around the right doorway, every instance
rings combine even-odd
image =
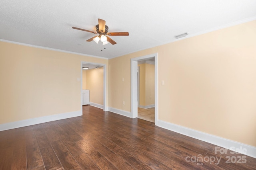
[[[256,146],[255,28],[250,21],[110,59],[109,106],[130,111],[130,59],[158,53],[160,120]]]

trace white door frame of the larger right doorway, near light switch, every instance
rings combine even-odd
[[[131,116],[138,117],[138,61],[155,57],[155,125],[158,123],[158,53],[131,59]]]

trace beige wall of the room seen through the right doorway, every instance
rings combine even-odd
[[[140,106],[155,104],[155,66],[153,64],[138,64],[140,66]]]

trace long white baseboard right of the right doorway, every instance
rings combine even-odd
[[[251,156],[253,158],[256,158],[256,147],[253,147],[250,145],[246,145],[246,144],[239,143],[236,141],[231,141],[229,139],[225,139],[225,138],[218,137],[215,135],[210,135],[208,133],[196,131],[194,129],[190,129],[187,127],[183,127],[183,126],[176,125],[176,124],[169,123],[169,122],[162,121],[162,120],[158,120],[158,126],[164,128],[164,129],[168,129],[170,131],[174,131],[174,132],[180,133],[182,135],[186,135],[186,136],[189,136],[189,137],[192,137],[195,139],[199,139],[201,141],[212,143],[214,145],[217,145],[217,146],[220,146],[220,147],[223,147],[226,149],[230,149],[233,151],[238,151],[236,149],[240,149],[241,151],[242,151],[242,149],[246,149],[246,152],[244,152],[244,153],[240,152],[240,153],[245,154],[247,156]],[[234,149],[232,149],[232,148],[234,148]]]

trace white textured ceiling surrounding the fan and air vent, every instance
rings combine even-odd
[[[106,20],[116,45],[86,42]],[[1,0],[0,39],[114,58],[228,25],[256,20],[256,0]],[[106,49],[104,49],[106,48]]]

